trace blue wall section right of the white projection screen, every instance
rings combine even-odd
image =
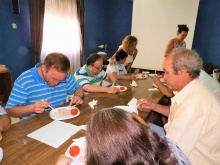
[[[220,67],[220,1],[200,0],[193,49],[204,63]]]

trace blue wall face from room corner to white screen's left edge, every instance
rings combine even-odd
[[[114,5],[112,5],[114,4]],[[108,1],[106,37],[108,53],[113,55],[125,36],[131,34],[132,0]]]

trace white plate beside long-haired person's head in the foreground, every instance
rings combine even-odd
[[[72,146],[79,147],[80,151],[77,156],[70,155],[69,151]],[[65,155],[73,160],[70,163],[71,165],[85,165],[86,164],[86,138],[81,137],[79,139],[75,139],[74,142],[66,150]]]

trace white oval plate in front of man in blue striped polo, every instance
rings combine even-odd
[[[72,115],[70,112],[70,110],[73,108],[78,110],[78,113],[76,115]],[[75,106],[59,107],[59,108],[54,108],[50,111],[50,117],[54,120],[66,120],[79,116],[79,114],[80,111]]]

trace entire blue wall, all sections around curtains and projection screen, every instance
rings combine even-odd
[[[204,62],[220,67],[220,1],[200,0],[193,48]],[[133,0],[85,0],[85,59],[107,44],[112,55],[122,39],[131,33]],[[11,0],[0,0],[0,64],[15,80],[34,66],[30,47],[28,0],[20,0],[20,14],[12,14]],[[17,29],[12,29],[12,23]]]

